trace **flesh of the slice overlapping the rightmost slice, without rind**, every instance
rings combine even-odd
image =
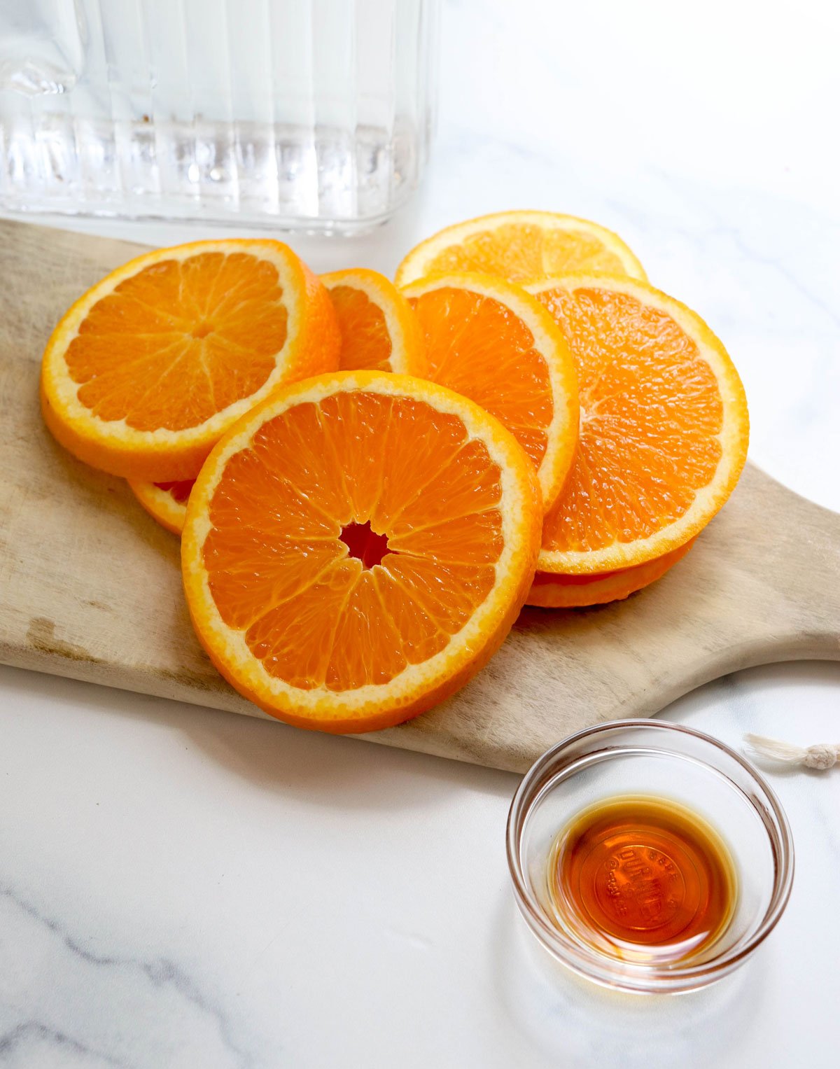
[[[554,406],[548,368],[528,327],[501,301],[454,286],[409,304],[425,336],[427,377],[495,416],[539,468]]]

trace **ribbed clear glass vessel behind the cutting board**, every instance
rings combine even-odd
[[[355,232],[417,186],[438,0],[2,0],[0,205]]]

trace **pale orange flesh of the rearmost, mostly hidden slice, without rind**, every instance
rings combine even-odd
[[[457,245],[442,249],[423,270],[426,275],[483,272],[520,282],[570,272],[623,274],[624,264],[585,231],[507,222],[470,234]]]

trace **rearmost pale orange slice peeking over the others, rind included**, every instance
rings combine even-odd
[[[483,272],[510,282],[546,275],[610,272],[644,279],[644,269],[611,230],[555,212],[498,212],[438,231],[396,268],[396,284],[453,270]]]

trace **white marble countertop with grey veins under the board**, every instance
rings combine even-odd
[[[838,32],[818,2],[452,0],[422,192],[367,238],[293,244],[390,273],[462,217],[596,219],[725,340],[752,460],[840,509]],[[735,746],[835,741],[839,685],[837,664],[772,666],[663,715]],[[756,957],[640,998],[554,966],[519,921],[512,775],[9,668],[0,707],[2,1066],[840,1060],[840,769],[772,773],[797,873]]]

